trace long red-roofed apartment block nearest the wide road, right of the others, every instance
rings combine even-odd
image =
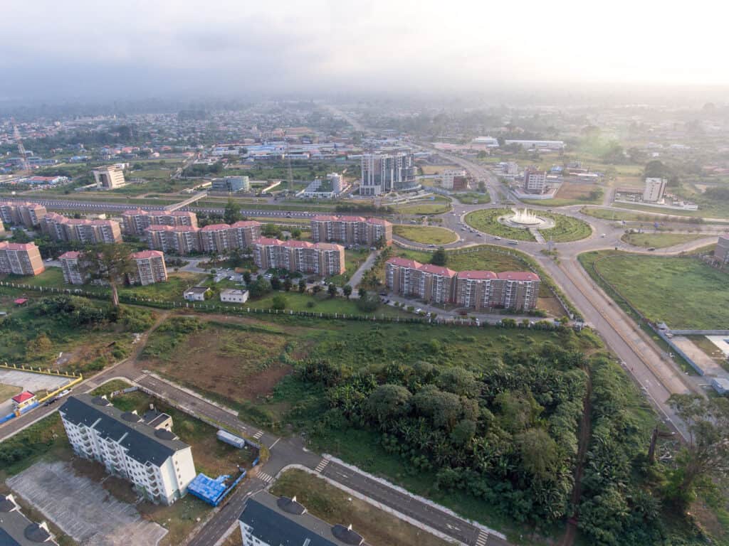
[[[387,261],[385,280],[396,294],[476,311],[493,308],[529,311],[536,308],[539,296],[539,277],[531,272],[454,272],[405,258]]]

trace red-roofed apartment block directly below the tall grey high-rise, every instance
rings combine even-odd
[[[382,218],[319,215],[311,219],[311,236],[314,242],[371,247],[382,239],[389,245],[392,242],[392,224]]]

